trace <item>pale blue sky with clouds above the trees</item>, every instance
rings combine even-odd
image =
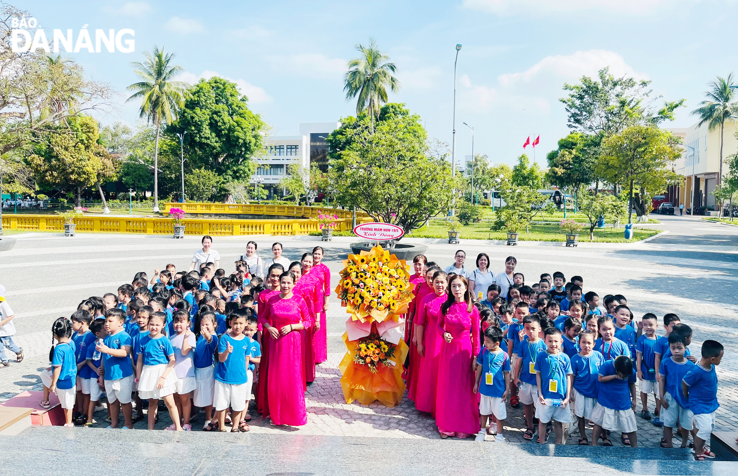
[[[734,0],[461,1],[12,1],[47,31],[84,24],[136,32],[136,51],[69,53],[89,77],[121,92],[103,123],[135,123],[123,104],[136,78],[131,61],[152,46],[176,52],[184,79],[235,81],[275,135],[299,123],[354,114],[342,91],[354,46],[374,37],[398,67],[402,88],[390,101],[420,114],[431,137],[451,144],[455,44],[458,57],[457,156],[475,152],[514,162],[528,135],[540,134],[538,162],[568,134],[562,83],[615,75],[652,80],[654,94],[687,99],[674,127],[706,83],[737,65]],[[70,7],[70,5],[74,7]],[[212,6],[211,6],[212,5]],[[104,50],[103,50],[104,51]],[[532,139],[531,139],[532,140]],[[526,151],[531,151],[527,148]]]

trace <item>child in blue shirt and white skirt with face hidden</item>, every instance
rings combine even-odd
[[[602,319],[602,318],[600,318]],[[607,359],[607,357],[605,357]],[[635,423],[635,365],[627,355],[607,360],[599,369],[597,404],[592,410],[592,446],[602,437],[602,446],[613,446],[602,430],[621,432],[625,446],[638,447]]]

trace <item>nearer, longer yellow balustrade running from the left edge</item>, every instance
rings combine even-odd
[[[262,205],[264,206],[264,205]],[[272,205],[269,205],[272,207]],[[357,218],[367,223],[370,218]],[[154,217],[109,217],[85,215],[75,220],[76,232],[139,233],[148,235],[173,235],[174,222],[171,218]],[[336,220],[336,230],[351,231],[351,218]],[[308,235],[320,231],[318,222],[310,218],[288,218],[273,220],[238,220],[185,218],[186,235]],[[64,221],[58,215],[20,215],[4,213],[2,226],[10,230],[63,231]]]

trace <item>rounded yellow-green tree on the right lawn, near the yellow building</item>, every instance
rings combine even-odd
[[[628,223],[632,222],[634,209],[639,218],[645,219],[650,197],[679,179],[671,170],[672,162],[681,154],[678,144],[671,132],[645,125],[632,125],[602,141],[596,173],[610,183],[630,187]]]

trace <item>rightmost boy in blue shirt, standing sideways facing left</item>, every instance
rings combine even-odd
[[[717,340],[702,343],[702,358],[682,379],[684,398],[689,400],[689,410],[694,413],[694,459],[705,461],[715,458],[714,452],[706,446],[712,427],[715,425],[717,403],[717,372],[715,365],[723,359],[723,344]]]

